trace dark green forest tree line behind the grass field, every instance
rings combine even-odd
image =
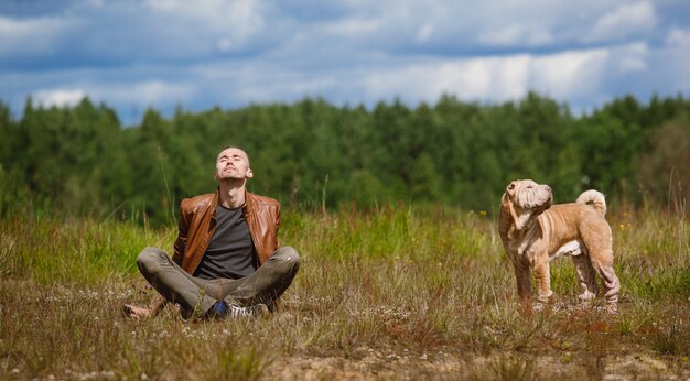
[[[21,118],[0,102],[0,211],[174,220],[177,203],[215,190],[216,154],[244,148],[250,190],[285,207],[381,203],[497,208],[515,178],[551,185],[556,202],[596,188],[611,200],[668,205],[690,195],[690,101],[616,98],[575,116],[530,92],[497,105],[441,97],[401,101],[251,105],[203,112],[148,109],[125,128],[84,98]]]

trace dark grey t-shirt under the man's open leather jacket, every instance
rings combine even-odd
[[[216,207],[216,231],[194,276],[201,279],[240,279],[254,273],[259,264],[242,208]]]

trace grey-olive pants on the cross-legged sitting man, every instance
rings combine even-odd
[[[182,270],[158,248],[145,248],[137,258],[143,277],[169,302],[177,303],[182,316],[203,316],[217,301],[269,307],[288,289],[300,268],[300,255],[291,247],[282,247],[257,271],[245,277],[203,280]]]

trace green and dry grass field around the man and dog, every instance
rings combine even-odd
[[[666,210],[614,209],[619,313],[580,304],[570,259],[553,301],[517,303],[484,211],[387,205],[283,213],[302,257],[268,318],[127,319],[153,292],[134,259],[174,227],[0,220],[0,379],[690,379],[690,229]]]

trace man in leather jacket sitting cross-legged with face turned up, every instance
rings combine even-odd
[[[297,275],[300,257],[278,246],[280,204],[247,192],[254,176],[245,151],[216,159],[218,189],[180,203],[172,259],[158,248],[137,258],[141,274],[164,297],[151,308],[125,305],[131,317],[155,316],[177,303],[185,318],[263,315]]]

